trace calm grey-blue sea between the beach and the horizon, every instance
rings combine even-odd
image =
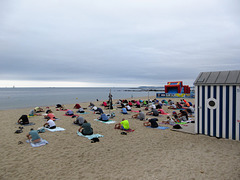
[[[131,88],[0,88],[0,110],[102,101],[110,89],[113,99],[156,96],[155,91]]]

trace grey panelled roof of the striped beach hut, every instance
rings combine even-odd
[[[240,85],[240,70],[201,72],[194,85]]]

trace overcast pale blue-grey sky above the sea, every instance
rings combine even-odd
[[[137,87],[240,70],[239,0],[1,0],[0,87]]]

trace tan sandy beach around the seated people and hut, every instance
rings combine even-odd
[[[179,101],[174,99],[177,100]],[[189,101],[194,102],[194,99]],[[102,102],[94,103],[100,107]],[[88,105],[89,103],[81,103],[82,107]],[[73,109],[73,105],[66,107]],[[131,118],[135,113],[123,115],[120,113],[121,109],[116,108],[111,111],[116,113],[113,120],[120,122],[122,118],[126,118],[130,127],[135,130],[121,135],[121,130],[114,129],[114,124],[94,121],[99,115],[93,114],[88,108],[89,114],[82,116],[92,124],[94,133],[104,135],[99,138],[100,142],[91,143],[91,140],[76,134],[79,126],[72,124],[75,118],[63,116],[64,111],[50,108],[60,118],[56,121],[57,126],[66,130],[41,133],[40,136],[49,142],[42,147],[31,147],[26,143],[26,134],[30,128],[37,129],[46,122],[43,116],[29,118],[35,125],[25,126],[23,133],[15,134],[19,127],[16,125],[17,120],[31,109],[0,111],[1,180],[240,179],[238,141],[170,129],[146,128],[143,121]],[[172,112],[167,107],[163,109]],[[109,110],[105,112],[108,113]],[[165,120],[166,116],[158,119]],[[23,144],[18,144],[19,141]]]

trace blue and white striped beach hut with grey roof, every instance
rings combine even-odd
[[[202,72],[195,85],[195,132],[240,140],[240,70]]]

